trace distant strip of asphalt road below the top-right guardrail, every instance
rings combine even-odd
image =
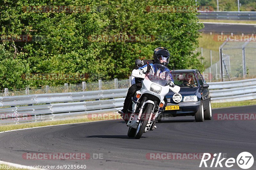
[[[253,25],[227,25],[227,24],[204,24],[204,28],[199,30],[204,33],[256,33],[256,26]]]

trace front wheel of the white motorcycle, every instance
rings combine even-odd
[[[147,103],[146,104],[146,108],[143,111],[143,113],[141,114],[141,120],[139,121],[136,133],[135,133],[135,138],[136,139],[140,139],[140,137],[142,136],[142,134],[144,133],[146,126],[148,124],[148,120],[150,117],[150,114],[153,110],[153,104],[152,103]]]

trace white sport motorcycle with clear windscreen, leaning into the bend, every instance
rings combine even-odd
[[[162,64],[153,64],[146,74],[142,70],[133,70],[132,76],[142,78],[143,81],[141,89],[135,92],[128,108],[127,135],[140,139],[143,133],[155,129],[156,118],[164,110],[164,97],[169,89],[178,93],[180,87],[171,82],[170,70]]]

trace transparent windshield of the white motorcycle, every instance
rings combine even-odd
[[[153,64],[147,77],[156,84],[166,86],[170,80],[170,70],[162,64]]]

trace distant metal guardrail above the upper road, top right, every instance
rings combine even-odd
[[[199,11],[200,19],[236,19],[236,20],[256,20],[254,11]]]

